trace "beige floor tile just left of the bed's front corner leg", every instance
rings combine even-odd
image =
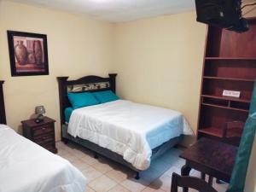
[[[115,182],[121,183],[129,177],[133,177],[134,173],[126,167],[113,169],[105,173],[106,176],[112,178]]]

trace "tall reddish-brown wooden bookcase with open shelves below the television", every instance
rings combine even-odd
[[[198,138],[222,141],[227,122],[247,119],[256,78],[256,18],[248,22],[250,30],[244,33],[208,26]],[[238,90],[241,96],[222,96],[223,90]]]

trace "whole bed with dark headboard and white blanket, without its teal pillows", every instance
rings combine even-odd
[[[121,99],[72,110],[67,94],[115,92],[116,75],[86,76],[70,81],[68,77],[58,78],[61,137],[65,143],[78,143],[129,166],[139,178],[139,172],[148,169],[151,160],[177,144],[183,134],[193,132],[182,113]]]

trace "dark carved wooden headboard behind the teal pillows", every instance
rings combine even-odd
[[[108,78],[90,75],[76,80],[67,80],[68,77],[57,77],[59,83],[61,125],[65,124],[65,108],[71,107],[67,98],[68,92],[112,90],[115,93],[116,76],[117,73],[109,73]]]

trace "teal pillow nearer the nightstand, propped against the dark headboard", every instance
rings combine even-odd
[[[83,93],[68,93],[67,97],[69,102],[71,102],[73,109],[83,108],[90,105],[99,104],[96,100],[96,97],[92,93],[83,92]]]

